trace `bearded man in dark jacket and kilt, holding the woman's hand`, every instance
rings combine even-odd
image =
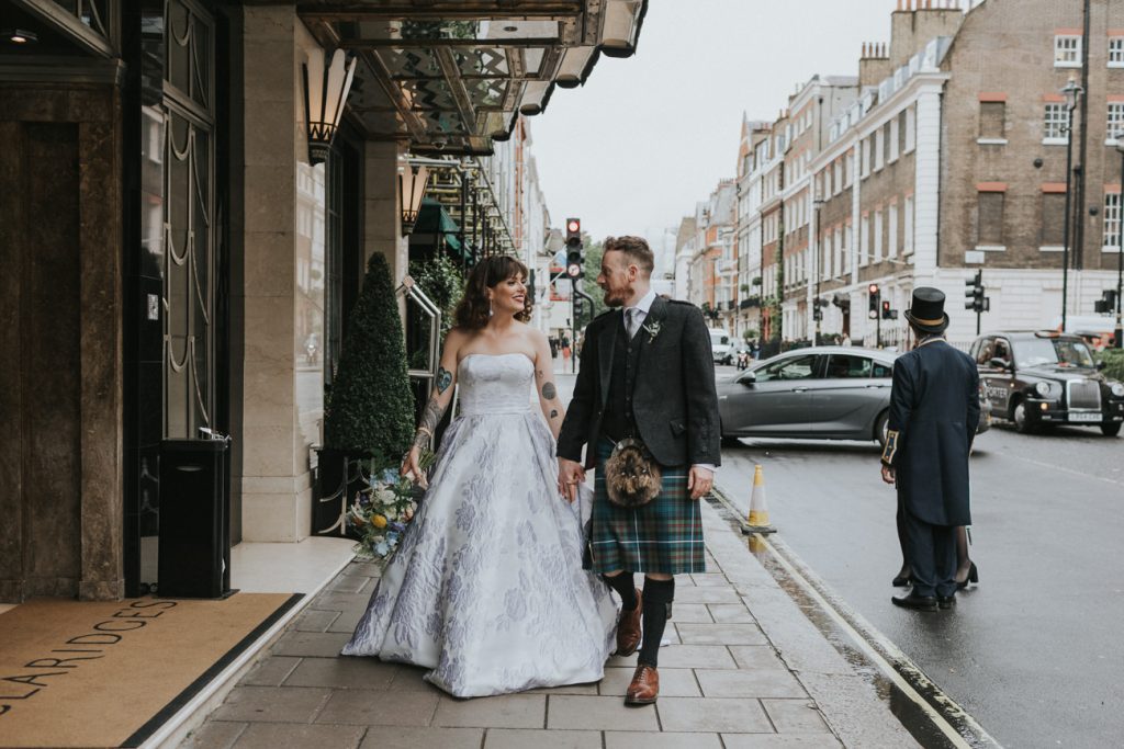
[[[584,469],[597,467],[592,568],[623,602],[617,655],[640,647],[626,705],[659,697],[656,660],[674,597],[672,575],[705,570],[697,500],[710,491],[720,460],[710,335],[697,307],[655,295],[653,266],[644,239],[606,239],[597,284],[606,304],[624,310],[606,312],[586,329],[558,440],[559,488],[571,501]],[[660,494],[636,509],[609,502],[601,471],[614,445],[626,438],[640,438],[663,474]],[[643,592],[635,573],[644,575]]]

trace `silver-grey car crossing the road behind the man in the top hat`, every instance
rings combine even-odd
[[[723,438],[878,440],[886,445],[896,351],[819,346],[718,382]],[[990,424],[985,407],[978,431]]]

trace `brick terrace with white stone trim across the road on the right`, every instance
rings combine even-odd
[[[771,133],[743,127],[738,246],[752,257],[760,227],[761,296],[782,295],[785,339],[815,337],[818,298],[825,336],[901,345],[909,294],[935,285],[951,339],[967,342],[977,319],[961,300],[977,271],[982,328],[1057,327],[1071,77],[1087,93],[1073,111],[1068,314],[1091,314],[1115,287],[1124,8],[1091,0],[1085,18],[1080,0],[914,1],[891,15],[889,44],[863,45],[858,81],[814,77]],[[896,316],[871,318],[871,284]],[[773,325],[763,309],[762,332]]]

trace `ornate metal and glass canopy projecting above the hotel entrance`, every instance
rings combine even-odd
[[[487,155],[555,86],[586,82],[599,55],[636,51],[647,0],[305,0],[326,48],[361,61],[348,109],[371,139],[417,154]]]

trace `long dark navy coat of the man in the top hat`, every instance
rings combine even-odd
[[[971,357],[943,340],[894,363],[882,463],[894,466],[905,508],[933,526],[971,523],[968,454],[980,419],[979,382]]]

